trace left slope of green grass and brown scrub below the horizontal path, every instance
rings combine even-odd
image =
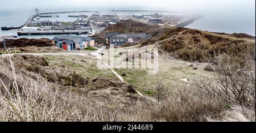
[[[53,88],[61,88],[63,93],[68,93],[71,89],[75,94],[84,95],[88,101],[119,101],[121,105],[126,106],[127,96],[135,92],[133,86],[122,83],[109,70],[100,71],[94,67],[97,61],[93,58],[14,55],[11,60],[17,74],[26,75],[34,80],[46,79]],[[0,61],[2,72],[10,69],[9,58],[2,58]],[[81,71],[86,67],[91,68]],[[4,76],[1,71],[0,74],[1,79],[10,76]],[[0,86],[0,89],[3,88]]]

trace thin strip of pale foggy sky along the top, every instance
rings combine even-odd
[[[0,11],[13,9],[34,10],[167,10],[184,12],[226,11],[240,10],[241,12],[255,12],[255,0],[1,0]]]

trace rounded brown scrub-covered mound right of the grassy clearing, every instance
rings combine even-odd
[[[163,36],[168,36],[168,34]],[[212,62],[223,54],[245,59],[250,53],[250,58],[255,57],[255,42],[184,28],[179,33],[168,37],[167,40],[159,43],[160,48],[175,58],[185,61]]]

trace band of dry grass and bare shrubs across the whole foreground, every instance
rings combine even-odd
[[[223,66],[222,66],[223,65]],[[46,80],[20,80],[22,91],[0,93],[1,121],[255,121],[255,65],[249,71],[227,69],[220,64],[216,79],[197,80],[195,83],[170,91],[160,80],[155,87],[159,103],[127,95],[126,104],[114,100],[124,83],[97,78],[97,91],[112,86],[109,102],[89,102],[88,95],[64,93],[51,88]],[[249,72],[249,73],[248,73]],[[10,76],[10,75],[9,75]],[[228,79],[224,78],[228,76]],[[1,78],[2,79],[2,78]],[[106,81],[106,83],[105,83]],[[226,85],[228,84],[228,85]],[[243,86],[245,85],[245,86]],[[222,87],[224,87],[222,89]],[[14,88],[19,88],[14,85]],[[132,87],[128,87],[132,88]],[[227,89],[226,89],[227,88]],[[5,88],[8,90],[7,88]],[[168,91],[167,91],[168,90]],[[131,91],[134,91],[131,89]],[[93,95],[93,91],[89,95]],[[139,100],[141,102],[134,102]],[[9,115],[13,114],[13,115]],[[235,115],[237,114],[237,115]]]

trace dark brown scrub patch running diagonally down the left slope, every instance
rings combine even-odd
[[[26,75],[31,80],[46,80],[47,84],[52,86],[52,88],[60,88],[61,93],[72,91],[75,95],[86,96],[88,101],[94,103],[115,100],[119,102],[120,106],[127,106],[130,94],[135,93],[131,85],[122,83],[118,79],[101,76],[96,79],[89,79],[86,76],[82,76],[79,72],[69,70],[65,65],[62,65],[61,68],[50,66],[46,57],[13,55],[11,61],[17,74]],[[3,58],[2,62],[1,65],[10,71],[11,68],[6,66],[10,64],[10,59]],[[5,79],[4,83],[6,84],[12,83],[13,79],[6,80],[8,77],[1,76],[1,79]],[[138,99],[137,95],[134,95],[134,97]]]

